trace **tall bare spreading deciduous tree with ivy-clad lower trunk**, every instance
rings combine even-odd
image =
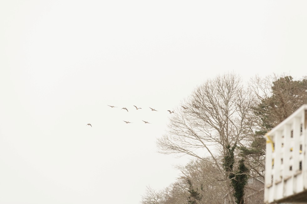
[[[210,155],[209,162],[229,182],[222,158],[227,145],[247,145],[247,138],[253,134],[252,103],[238,75],[230,73],[207,80],[186,100],[187,109],[175,111],[168,134],[158,139],[160,152],[188,154],[201,160]],[[231,193],[228,195],[234,203]]]

